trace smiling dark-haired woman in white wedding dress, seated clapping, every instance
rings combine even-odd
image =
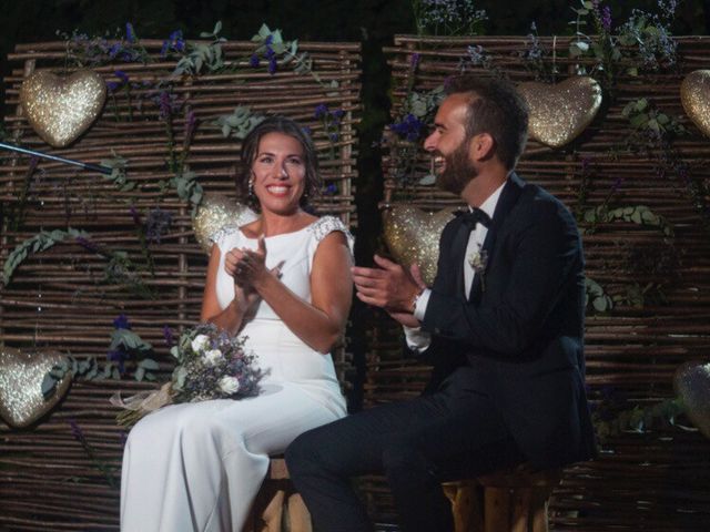
[[[173,405],[133,428],[123,532],[241,531],[270,454],[346,413],[328,351],[349,311],[352,236],[303,208],[320,178],[295,122],[263,121],[242,163],[237,186],[261,216],[214,235],[202,319],[245,337],[266,376],[256,397]]]

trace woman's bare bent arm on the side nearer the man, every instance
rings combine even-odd
[[[353,298],[351,266],[345,235],[335,231],[321,241],[313,257],[311,304],[265,268],[260,268],[252,284],[294,335],[327,354],[345,330]]]

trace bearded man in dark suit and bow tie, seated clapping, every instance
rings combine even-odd
[[[565,206],[514,172],[528,114],[503,81],[455,78],[425,141],[437,185],[469,205],[442,234],[433,287],[375,256],[357,297],[405,328],[434,365],[422,397],[301,436],[286,451],[316,530],[368,531],[349,478],[384,472],[403,530],[453,530],[440,488],[527,462],[594,456],[585,397],[584,259]]]

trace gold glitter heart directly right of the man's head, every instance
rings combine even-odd
[[[530,108],[530,139],[560,147],[568,144],[595,120],[601,105],[601,86],[582,75],[550,85],[525,82],[518,91]]]

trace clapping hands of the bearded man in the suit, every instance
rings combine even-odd
[[[353,267],[357,298],[368,305],[384,308],[393,317],[400,313],[412,314],[414,298],[422,288],[409,272],[397,263],[375,255],[375,264],[379,267]]]

